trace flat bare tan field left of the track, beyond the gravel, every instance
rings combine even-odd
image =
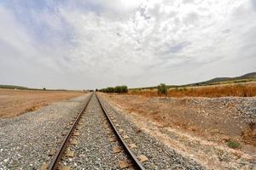
[[[0,88],[0,118],[36,111],[44,105],[82,95],[81,91],[36,91]]]

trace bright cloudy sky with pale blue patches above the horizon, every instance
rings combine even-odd
[[[1,0],[0,84],[145,87],[256,71],[256,0]]]

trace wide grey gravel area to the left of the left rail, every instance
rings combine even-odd
[[[63,129],[77,115],[87,95],[56,102],[41,110],[0,119],[0,169],[39,169],[49,161]]]

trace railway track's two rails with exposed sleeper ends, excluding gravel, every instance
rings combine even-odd
[[[90,96],[87,98],[84,108],[81,112],[79,112],[78,116],[75,118],[74,122],[72,123],[72,127],[68,130],[67,135],[65,138],[61,141],[61,144],[58,148],[58,150],[51,151],[53,155],[52,159],[50,160],[49,164],[44,163],[42,166],[42,170],[55,170],[55,169],[62,169],[62,170],[68,170],[70,167],[63,166],[61,164],[61,159],[63,156],[73,156],[73,152],[70,152],[67,150],[67,147],[69,144],[74,144],[77,141],[73,139],[73,136],[79,135],[79,124],[81,124],[80,120],[81,117],[85,117],[84,114],[86,113],[86,108],[89,105],[91,98],[96,96],[96,101],[99,103],[102,112],[104,113],[107,122],[109,124],[109,127],[112,129],[112,131],[108,131],[108,134],[112,136],[112,138],[109,139],[109,142],[119,142],[120,147],[113,148],[113,153],[119,153],[124,152],[126,157],[128,157],[127,160],[119,161],[119,168],[123,169],[126,167],[134,167],[135,169],[145,169],[143,167],[142,162],[147,161],[148,158],[146,156],[135,156],[135,154],[131,150],[131,144],[127,144],[125,142],[125,138],[127,136],[122,136],[121,132],[119,132],[119,129],[115,125],[115,120],[112,115],[108,114],[108,111],[105,109],[104,105],[102,104],[102,99],[98,96],[98,94],[90,94]],[[123,131],[123,130],[121,130]],[[136,146],[135,146],[136,147]],[[54,153],[54,154],[53,154]]]

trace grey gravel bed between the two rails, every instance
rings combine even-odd
[[[113,134],[107,133],[110,126],[96,95],[92,96],[82,122],[80,135],[73,137],[79,143],[69,147],[69,150],[74,151],[74,157],[66,158],[62,164],[73,169],[119,169],[119,161],[127,158],[125,153],[113,154],[113,146],[119,144],[109,142]]]

